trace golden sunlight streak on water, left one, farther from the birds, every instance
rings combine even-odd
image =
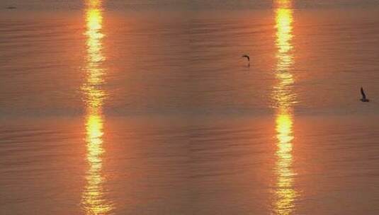
[[[81,87],[86,105],[86,187],[82,193],[81,205],[85,214],[109,214],[113,205],[106,199],[103,189],[105,178],[103,165],[103,103],[106,92],[103,79],[106,69],[102,49],[103,11],[101,0],[85,1],[86,21],[86,81]]]

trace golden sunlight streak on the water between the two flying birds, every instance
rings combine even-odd
[[[294,202],[298,197],[293,185],[293,104],[295,82],[293,65],[293,9],[291,0],[275,1],[276,20],[276,85],[273,101],[276,108],[276,190],[273,214],[294,214]]]

